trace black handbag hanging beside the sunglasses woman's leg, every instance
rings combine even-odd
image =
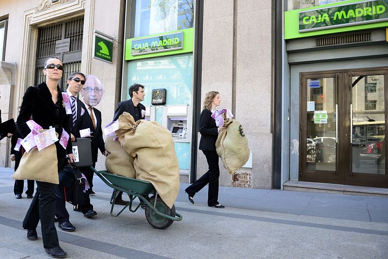
[[[77,209],[83,203],[83,185],[86,179],[82,178],[76,166],[66,165],[59,171],[59,184],[55,194],[75,206]]]

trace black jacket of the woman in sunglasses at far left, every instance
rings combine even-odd
[[[51,93],[46,85],[46,82],[27,88],[21,103],[20,113],[16,121],[20,138],[25,138],[31,132],[31,129],[26,124],[30,118],[32,118],[44,129],[49,129],[50,126],[55,128],[55,131],[59,135],[58,138],[62,135],[62,129],[65,129],[67,133],[70,133],[70,115],[66,114],[61,89],[58,86],[57,88],[58,102],[61,104],[58,111],[51,99]],[[57,112],[59,115],[57,115]],[[66,150],[59,144],[59,141],[55,142],[55,146],[57,147],[58,169],[60,169],[65,162],[66,154],[72,153],[70,137]]]

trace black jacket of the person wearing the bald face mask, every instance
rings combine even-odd
[[[85,109],[85,113],[83,114],[82,123],[79,127],[79,129],[90,129],[92,139],[92,161],[95,163],[97,162],[98,157],[98,148],[100,149],[101,153],[105,151],[105,144],[104,139],[102,138],[102,129],[101,129],[101,112],[98,111],[96,108],[93,107],[93,111],[96,115],[97,119],[97,125],[96,129],[94,129],[92,118],[90,117],[88,111],[86,111],[86,107],[83,105],[83,109]]]

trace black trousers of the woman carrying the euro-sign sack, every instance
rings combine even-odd
[[[205,151],[206,160],[208,161],[209,170],[201,178],[196,180],[192,185],[186,188],[186,193],[194,197],[206,184],[209,183],[208,205],[218,204],[218,178],[220,177],[220,168],[218,166],[218,155],[215,150]]]

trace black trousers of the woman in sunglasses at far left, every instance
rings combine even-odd
[[[36,194],[23,221],[24,229],[36,229],[39,223],[42,227],[43,247],[59,246],[57,230],[54,226],[55,213],[55,184],[36,181]]]

